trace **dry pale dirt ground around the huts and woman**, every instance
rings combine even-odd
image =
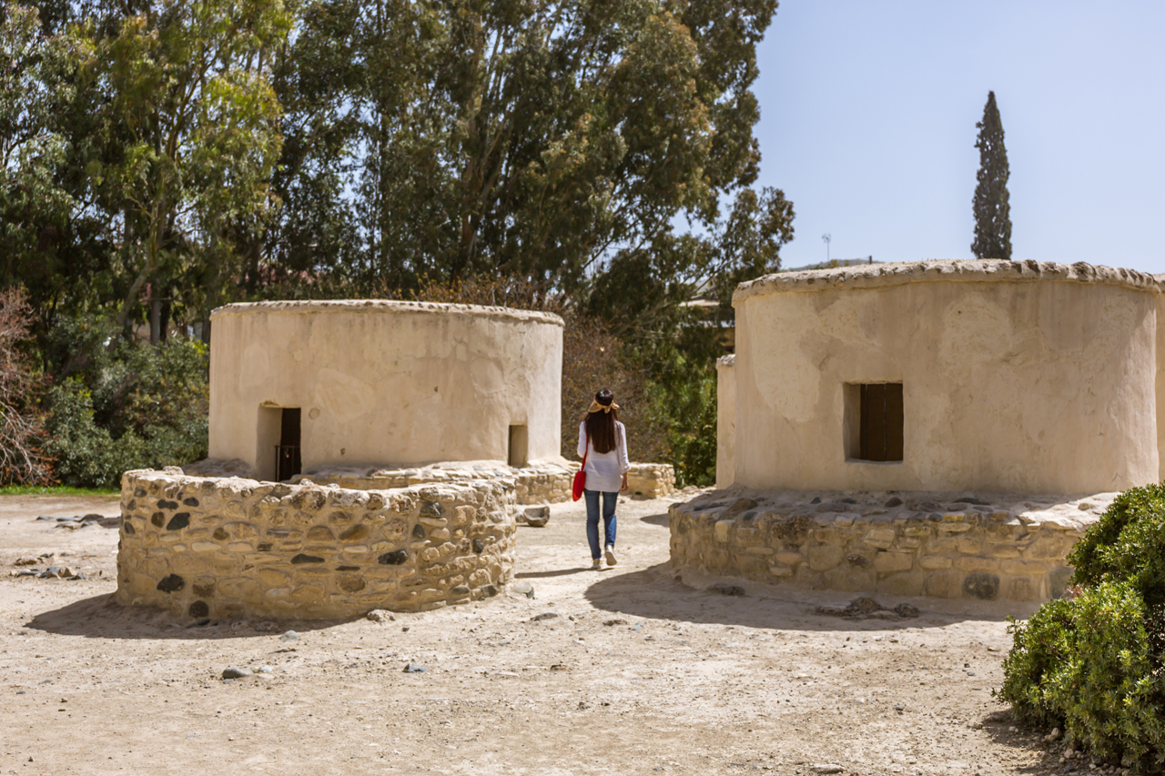
[[[668,503],[621,505],[601,572],[581,503],[520,528],[532,599],[188,627],[113,602],[114,528],[36,520],[115,500],[2,498],[0,774],[1068,773],[991,698],[1007,606],[911,599],[917,619],[852,621],[814,613],[847,594],[687,586]],[[48,552],[91,578],[8,576]]]

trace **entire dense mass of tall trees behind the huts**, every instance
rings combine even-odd
[[[644,457],[694,456],[730,290],[792,237],[784,195],[754,188],[776,7],[3,6],[0,285],[36,311],[49,403],[78,445],[128,450],[154,437],[108,409],[106,375],[147,331],[207,340],[233,301],[524,283],[566,316],[578,390],[622,385],[654,418]],[[698,296],[719,306],[685,306]],[[94,466],[77,477],[115,468]]]

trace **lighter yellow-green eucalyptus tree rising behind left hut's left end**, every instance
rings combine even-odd
[[[280,0],[150,1],[97,40],[120,147],[92,175],[116,207],[121,326],[147,282],[186,280],[205,313],[236,276],[232,238],[256,234],[273,207],[280,103],[269,75],[289,26]]]

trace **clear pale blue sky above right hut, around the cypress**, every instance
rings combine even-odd
[[[785,267],[972,259],[994,90],[1012,258],[1165,273],[1165,2],[782,0],[758,59]]]

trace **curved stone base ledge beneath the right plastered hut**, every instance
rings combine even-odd
[[[1116,495],[714,491],[670,508],[671,565],[811,590],[1046,601]]]

